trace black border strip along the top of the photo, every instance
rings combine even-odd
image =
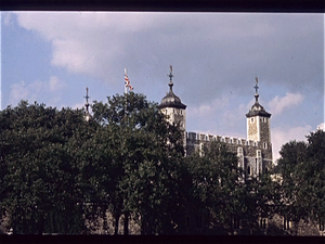
[[[324,0],[1,0],[2,11],[311,12]]]

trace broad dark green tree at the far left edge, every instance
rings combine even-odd
[[[14,233],[84,231],[78,166],[69,140],[84,130],[81,111],[29,105],[0,112],[2,215]]]

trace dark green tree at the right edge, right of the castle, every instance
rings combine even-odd
[[[325,133],[311,132],[308,142],[283,145],[276,172],[281,175],[281,214],[289,220],[325,219]]]

